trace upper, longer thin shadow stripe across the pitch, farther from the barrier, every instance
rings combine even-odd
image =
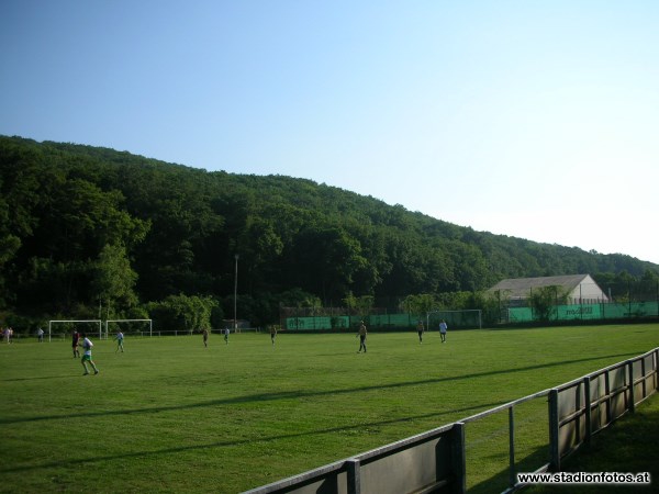
[[[59,420],[59,419],[71,419],[71,418],[89,418],[89,417],[100,417],[105,415],[132,415],[132,414],[153,414],[153,413],[161,413],[161,412],[175,412],[180,409],[193,409],[193,408],[202,408],[209,406],[220,406],[220,405],[235,405],[241,403],[254,403],[254,402],[271,402],[279,400],[298,400],[298,398],[306,398],[314,396],[328,396],[328,395],[339,395],[339,394],[349,394],[349,393],[362,393],[368,391],[382,391],[382,390],[392,390],[392,389],[401,389],[407,386],[417,386],[424,384],[437,384],[440,382],[451,382],[451,381],[463,381],[469,379],[484,378],[488,375],[498,375],[498,374],[507,374],[515,372],[524,372],[529,370],[537,369],[547,369],[549,367],[559,367],[568,363],[577,363],[577,362],[588,362],[591,360],[601,360],[606,358],[623,358],[623,357],[634,357],[636,353],[621,353],[621,355],[608,355],[608,356],[600,356],[600,357],[590,357],[583,359],[576,360],[563,360],[560,362],[552,363],[541,363],[537,366],[527,366],[520,368],[510,368],[510,369],[501,369],[488,372],[474,372],[465,375],[455,375],[448,378],[435,378],[435,379],[422,379],[418,381],[407,381],[407,382],[399,382],[383,385],[370,385],[370,386],[360,386],[360,388],[349,388],[349,389],[338,389],[338,390],[324,390],[324,391],[282,391],[275,393],[257,393],[257,394],[248,394],[244,396],[235,396],[222,400],[211,400],[208,402],[201,403],[188,403],[185,405],[170,405],[170,406],[153,406],[145,408],[134,408],[134,409],[118,409],[118,411],[103,411],[103,412],[85,412],[78,414],[67,414],[67,415],[35,415],[32,417],[13,417],[0,418],[0,425],[4,424],[20,424],[20,423],[29,423],[29,422],[44,422],[44,420]],[[505,402],[502,402],[505,403]]]

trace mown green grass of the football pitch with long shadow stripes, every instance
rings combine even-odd
[[[87,377],[68,340],[0,347],[0,492],[245,491],[646,352],[659,325],[372,333],[366,355],[354,334],[94,343]],[[544,462],[545,417],[516,411],[522,463]],[[506,465],[506,420],[468,425],[474,492]]]

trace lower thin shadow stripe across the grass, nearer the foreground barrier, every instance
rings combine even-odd
[[[185,452],[185,451],[199,451],[199,450],[213,449],[213,448],[225,448],[225,447],[239,446],[239,445],[245,445],[245,444],[255,442],[255,441],[269,442],[269,441],[277,441],[277,440],[281,440],[281,439],[293,439],[293,438],[304,437],[304,436],[321,436],[321,435],[325,435],[325,434],[346,433],[346,431],[350,431],[350,430],[365,430],[367,428],[372,428],[372,427],[377,427],[377,426],[386,426],[386,425],[399,424],[399,423],[403,423],[403,422],[406,423],[406,422],[415,420],[415,419],[426,419],[426,418],[432,418],[432,417],[437,418],[443,415],[448,415],[451,413],[474,412],[474,411],[479,411],[482,408],[491,408],[491,407],[501,405],[502,403],[487,403],[487,404],[482,404],[482,405],[468,406],[468,407],[459,408],[459,409],[444,411],[444,412],[437,412],[437,413],[432,413],[432,414],[415,415],[415,416],[407,416],[407,417],[401,417],[401,418],[392,418],[389,420],[380,420],[380,422],[369,420],[369,422],[364,422],[364,423],[355,424],[355,425],[350,425],[350,426],[330,427],[326,429],[310,430],[310,431],[305,431],[305,433],[281,434],[281,435],[270,436],[270,437],[247,438],[247,439],[239,439],[239,440],[232,440],[232,441],[217,441],[217,442],[209,442],[206,445],[182,446],[179,448],[164,448],[164,449],[158,449],[158,450],[153,450],[153,451],[137,451],[137,452],[133,451],[133,452],[122,453],[122,454],[109,454],[109,456],[93,457],[93,458],[80,458],[80,459],[75,459],[75,460],[71,460],[69,458],[69,459],[66,459],[63,461],[53,461],[49,463],[43,463],[43,464],[37,464],[37,465],[15,467],[15,468],[9,468],[9,469],[0,467],[0,472],[4,472],[4,473],[29,472],[29,471],[33,471],[33,470],[40,470],[40,469],[68,467],[71,463],[75,463],[76,465],[82,465],[82,464],[88,464],[88,463],[94,463],[97,461],[103,462],[103,461],[121,460],[121,459],[130,459],[130,458],[154,457],[154,456],[158,456],[158,454],[172,454],[172,453],[180,453],[180,452]]]

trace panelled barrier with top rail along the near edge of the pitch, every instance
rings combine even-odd
[[[513,492],[522,487],[516,483],[517,473],[530,472],[528,458],[522,471],[516,460],[521,426],[515,423],[515,409],[537,400],[548,403],[548,440],[541,454],[532,456],[534,460],[543,458],[534,473],[560,471],[566,457],[659,390],[658,362],[659,347],[557,388],[244,494],[466,493],[468,430],[501,413],[507,414],[507,451],[503,451],[507,465],[502,465],[507,470],[507,487],[502,491]]]

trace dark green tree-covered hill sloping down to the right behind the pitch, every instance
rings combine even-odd
[[[641,277],[624,255],[474,232],[310,180],[208,172],[107,148],[0,137],[4,311],[116,311],[169,295],[222,304],[393,300],[503,278]],[[246,308],[245,308],[246,310]],[[257,308],[254,308],[257,311]]]

